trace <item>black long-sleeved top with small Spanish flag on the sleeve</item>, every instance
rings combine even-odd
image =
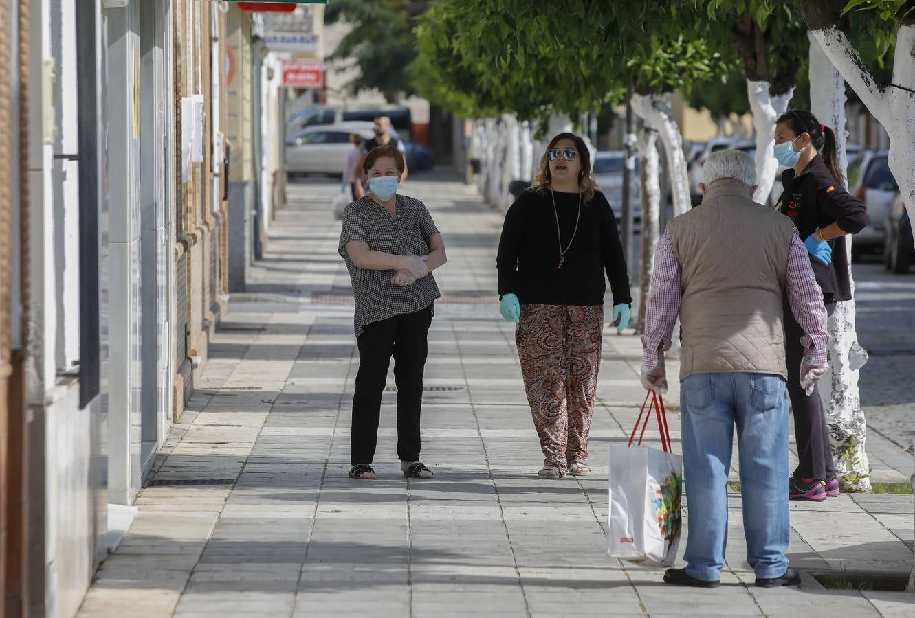
[[[784,191],[779,198],[782,213],[794,220],[801,240],[806,240],[817,228],[838,223],[842,231],[857,234],[867,225],[867,208],[860,199],[835,182],[823,156],[817,154],[801,174],[793,169],[781,173]],[[833,263],[829,266],[811,258],[816,282],[823,290],[823,303],[851,300],[852,290],[845,255],[845,237],[830,240]]]

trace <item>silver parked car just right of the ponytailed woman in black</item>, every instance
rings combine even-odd
[[[859,261],[863,253],[883,251],[884,226],[893,199],[899,194],[896,179],[889,171],[887,151],[865,151],[849,165],[848,190],[867,206],[867,226],[852,242],[852,261]]]

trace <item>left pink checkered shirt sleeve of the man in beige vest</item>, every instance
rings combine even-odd
[[[680,313],[680,262],[673,254],[670,230],[658,241],[651,272],[651,293],[645,305],[645,334],[641,336],[641,366],[653,369],[664,364],[664,351],[671,348],[673,325]]]

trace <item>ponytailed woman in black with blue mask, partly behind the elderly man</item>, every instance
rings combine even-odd
[[[845,235],[867,225],[867,210],[861,200],[843,186],[835,147],[835,133],[811,112],[789,110],[775,123],[775,158],[789,169],[781,175],[784,190],[778,208],[794,221],[807,247],[816,282],[823,290],[826,313],[837,302],[851,300],[851,282],[845,253]],[[833,453],[820,393],[807,395],[800,381],[803,331],[785,301],[785,360],[788,397],[794,412],[794,435],[798,467],[791,474],[792,500],[820,502],[839,495]]]

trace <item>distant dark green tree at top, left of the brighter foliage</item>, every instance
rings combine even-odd
[[[340,19],[352,24],[331,60],[352,60],[359,75],[347,84],[351,94],[381,91],[388,101],[415,93],[416,59],[414,27],[425,11],[426,0],[333,0],[325,24]]]

